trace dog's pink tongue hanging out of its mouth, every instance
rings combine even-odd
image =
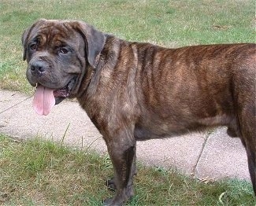
[[[54,90],[37,86],[33,99],[33,108],[39,115],[48,115],[55,105]]]

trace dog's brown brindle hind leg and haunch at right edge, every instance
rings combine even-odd
[[[247,151],[250,179],[256,195],[256,61],[255,46],[241,53],[233,64],[232,96],[237,134]],[[243,54],[243,55],[242,55]]]

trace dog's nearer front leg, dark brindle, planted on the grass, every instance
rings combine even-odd
[[[117,191],[113,198],[106,199],[104,205],[122,205],[134,194],[133,175],[135,166],[135,138],[130,131],[121,131],[106,141],[114,169],[114,185]]]

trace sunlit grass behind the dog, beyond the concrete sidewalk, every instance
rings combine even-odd
[[[0,89],[32,91],[20,36],[39,18],[84,20],[122,39],[162,46],[255,42],[254,0],[0,2]]]

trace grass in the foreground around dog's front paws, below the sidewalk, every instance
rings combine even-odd
[[[101,205],[113,195],[107,156],[61,142],[0,135],[1,205]],[[255,205],[250,182],[200,182],[176,171],[139,164],[135,197],[127,205]]]

